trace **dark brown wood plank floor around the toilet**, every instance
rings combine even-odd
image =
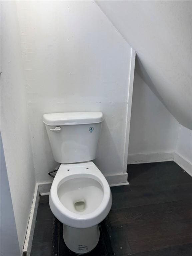
[[[192,256],[192,177],[173,161],[128,165],[127,172],[130,185],[111,187],[104,220],[114,256]],[[31,256],[53,256],[53,223],[42,196]]]

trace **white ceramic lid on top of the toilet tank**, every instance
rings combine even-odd
[[[43,122],[46,125],[76,125],[95,124],[103,121],[102,112],[64,112],[43,115]]]

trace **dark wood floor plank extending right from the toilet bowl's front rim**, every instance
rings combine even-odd
[[[192,204],[190,201],[173,201],[162,204],[152,204],[124,209],[111,210],[109,221],[111,226],[126,228],[132,225],[147,223],[162,223],[190,219],[192,216]]]

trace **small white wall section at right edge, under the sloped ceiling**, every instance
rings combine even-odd
[[[192,131],[180,125],[176,153],[192,163]]]

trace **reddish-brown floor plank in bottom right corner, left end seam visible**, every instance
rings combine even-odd
[[[190,220],[147,223],[124,230],[133,253],[192,243]]]

